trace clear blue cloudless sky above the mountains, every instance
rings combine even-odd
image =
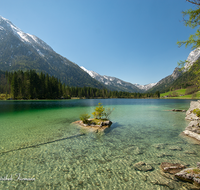
[[[101,75],[138,84],[172,74],[195,31],[181,12],[186,0],[0,0],[0,15],[54,51]]]

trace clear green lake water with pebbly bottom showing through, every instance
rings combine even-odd
[[[115,108],[105,133],[71,124],[98,102]],[[190,100],[103,99],[0,102],[0,189],[183,189],[161,162],[196,166],[200,145],[181,132]],[[81,134],[85,135],[81,135]],[[139,161],[152,171],[137,171]],[[17,174],[17,175],[15,175]],[[33,181],[17,181],[35,178]],[[168,185],[166,185],[168,184]]]

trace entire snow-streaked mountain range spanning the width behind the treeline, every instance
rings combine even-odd
[[[200,48],[190,52],[183,70],[174,72],[157,83],[132,84],[116,77],[102,76],[79,67],[56,53],[40,38],[24,33],[11,21],[0,16],[0,70],[16,71],[34,69],[57,77],[69,86],[89,86],[127,92],[155,92],[169,90],[172,83],[199,59]]]

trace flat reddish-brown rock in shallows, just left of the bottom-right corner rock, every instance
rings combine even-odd
[[[175,174],[185,169],[186,167],[179,163],[162,162],[160,165],[163,172]]]

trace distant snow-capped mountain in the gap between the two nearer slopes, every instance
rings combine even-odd
[[[126,91],[126,92],[145,92],[156,83],[148,84],[148,85],[139,85],[139,84],[132,84],[129,82],[125,82],[121,79],[110,77],[110,76],[102,76],[94,71],[89,71],[83,66],[81,68],[86,71],[92,78],[98,80],[99,82],[104,83],[107,85],[109,89],[118,90],[118,91]]]

